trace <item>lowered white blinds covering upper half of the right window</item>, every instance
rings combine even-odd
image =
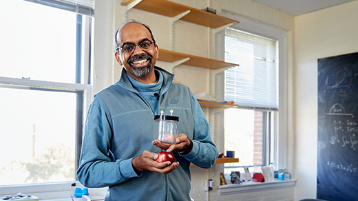
[[[241,107],[278,108],[278,42],[233,28],[225,30],[224,99]]]

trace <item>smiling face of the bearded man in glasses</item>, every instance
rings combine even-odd
[[[117,36],[118,46],[125,43],[138,44],[140,42],[149,40],[153,41],[151,34],[145,26],[140,23],[127,23],[120,29]],[[120,65],[125,67],[127,74],[136,81],[142,83],[155,83],[156,76],[154,74],[154,65],[158,58],[158,46],[151,43],[151,47],[143,51],[139,45],[136,45],[134,52],[128,54],[121,48],[116,52],[116,60]]]

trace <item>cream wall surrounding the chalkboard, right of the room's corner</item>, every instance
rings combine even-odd
[[[358,52],[358,1],[295,17],[295,200],[316,197],[317,59]]]

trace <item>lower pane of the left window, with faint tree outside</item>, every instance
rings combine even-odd
[[[0,185],[75,180],[76,94],[0,94]]]

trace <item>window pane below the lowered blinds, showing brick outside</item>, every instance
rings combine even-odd
[[[262,165],[262,114],[251,109],[225,110],[225,151],[235,151],[235,157],[240,158],[239,162],[225,164],[225,167]]]

